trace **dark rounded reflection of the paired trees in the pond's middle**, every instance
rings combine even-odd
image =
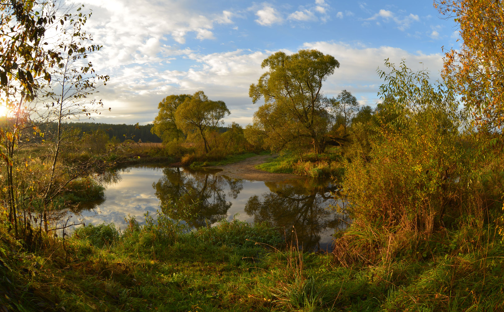
[[[231,202],[226,201],[226,185],[230,188],[228,196],[234,199],[243,189],[240,179],[216,176],[213,171],[165,168],[163,173],[164,176],[152,185],[163,212],[170,218],[181,218],[196,228],[227,217]],[[187,207],[190,207],[190,211],[187,211]]]

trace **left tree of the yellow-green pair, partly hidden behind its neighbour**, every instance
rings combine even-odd
[[[164,143],[183,137],[182,131],[175,123],[175,111],[190,94],[169,95],[158,104],[159,113],[154,119],[154,127],[151,132],[160,137]]]

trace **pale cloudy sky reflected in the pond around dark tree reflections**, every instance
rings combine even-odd
[[[153,188],[153,183],[157,183],[163,176],[163,168],[157,167],[131,167],[121,173],[121,178],[106,186],[105,196],[106,200],[98,205],[93,210],[84,210],[79,219],[84,219],[86,224],[92,223],[94,225],[100,223],[114,223],[116,228],[124,229],[127,226],[124,218],[131,215],[140,223],[144,221],[144,214],[146,212],[155,213],[159,210],[160,200],[156,197],[156,190]],[[245,211],[247,201],[255,195],[259,197],[260,201],[264,200],[263,195],[270,193],[271,190],[262,181],[248,181],[241,180],[243,189],[239,192],[236,199],[230,194],[228,183],[222,184],[222,191],[226,195],[226,201],[231,202],[231,207],[227,211],[226,219],[231,221],[233,217],[236,219],[254,222],[254,215],[248,215]],[[323,207],[328,207],[333,201],[323,201]],[[282,209],[278,207],[278,209]],[[78,221],[78,217],[74,217]],[[76,222],[77,223],[77,222]],[[284,226],[290,226],[284,224]],[[334,228],[328,227],[322,229],[318,236],[320,236],[320,244],[322,248],[326,248],[327,244],[331,242],[331,234],[334,233]]]

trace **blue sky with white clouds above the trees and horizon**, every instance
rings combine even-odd
[[[432,0],[79,0],[92,10],[86,29],[103,48],[90,55],[110,81],[96,94],[104,111],[95,122],[151,123],[171,94],[203,90],[223,100],[224,121],[253,122],[261,105],[248,87],[265,72],[261,62],[282,50],[318,49],[340,63],[323,84],[326,96],[348,90],[374,107],[383,84],[376,73],[389,58],[439,79],[443,50],[457,47],[453,20]],[[89,120],[88,120],[89,121]]]

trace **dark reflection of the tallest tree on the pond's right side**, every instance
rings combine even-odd
[[[336,229],[342,222],[341,215],[326,209],[334,204],[330,192],[336,191],[335,186],[327,186],[327,183],[310,185],[310,180],[304,179],[288,183],[267,182],[266,185],[271,192],[262,197],[250,197],[245,212],[254,216],[256,223],[267,222],[284,227],[288,232],[294,226],[299,242],[306,249],[318,246],[320,234],[330,228]]]

